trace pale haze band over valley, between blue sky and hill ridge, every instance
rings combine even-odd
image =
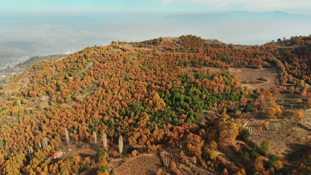
[[[201,14],[0,14],[0,68],[32,56],[74,53],[112,41],[197,35],[225,43],[255,45],[277,38],[309,35],[311,16],[286,12]]]

